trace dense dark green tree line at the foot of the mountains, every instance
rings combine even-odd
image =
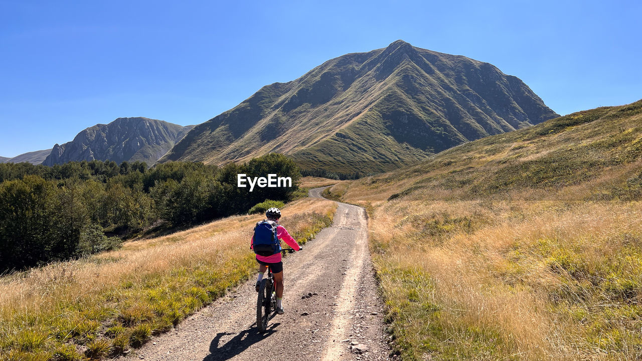
[[[291,177],[292,187],[237,187],[237,174]],[[246,213],[266,199],[290,200],[300,170],[281,154],[223,167],[169,162],[0,164],[0,273],[118,247],[108,237],[159,221],[180,227]]]

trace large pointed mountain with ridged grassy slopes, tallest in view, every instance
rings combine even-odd
[[[197,125],[159,162],[222,164],[281,152],[304,169],[383,172],[556,116],[491,64],[397,40],[266,85]]]

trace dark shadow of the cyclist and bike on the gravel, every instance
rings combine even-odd
[[[272,333],[275,333],[277,331],[275,330],[275,328],[279,325],[280,323],[278,322],[273,323],[272,325],[270,325],[270,327],[268,327],[267,330],[265,330],[265,332],[259,332],[259,329],[256,328],[256,324],[252,324],[252,326],[248,330],[241,331],[238,335],[234,336],[233,339],[229,340],[223,345],[219,344],[221,337],[227,336],[227,335],[234,335],[234,333],[231,333],[231,332],[217,333],[216,337],[214,337],[212,342],[209,344],[210,355],[207,355],[203,359],[203,361],[229,360],[230,358],[238,355],[239,353],[242,353],[253,344],[256,344],[257,342],[272,335]]]

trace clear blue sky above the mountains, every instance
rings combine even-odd
[[[413,46],[490,62],[560,114],[642,98],[639,1],[0,3],[0,155],[145,116],[198,124],[325,60]]]

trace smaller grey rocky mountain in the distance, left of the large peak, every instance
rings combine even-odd
[[[193,128],[148,118],[118,118],[87,128],[63,145],[56,144],[42,162],[46,166],[69,161],[143,161],[155,163]]]

